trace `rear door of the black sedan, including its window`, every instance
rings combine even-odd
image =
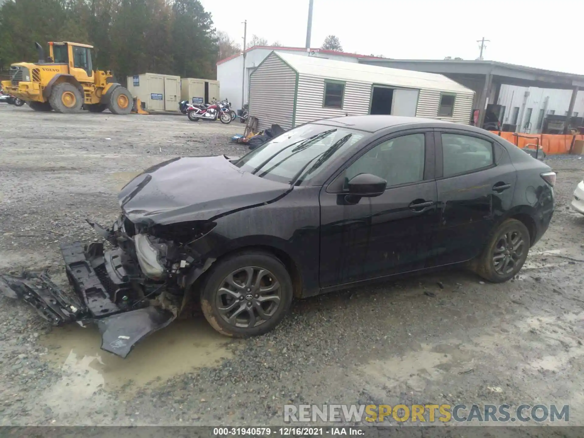
[[[511,207],[517,173],[505,148],[488,135],[436,130],[440,225],[431,266],[478,255],[496,221]]]

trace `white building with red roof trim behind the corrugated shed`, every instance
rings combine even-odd
[[[219,81],[221,87],[221,99],[228,99],[233,109],[241,109],[243,106],[241,102],[242,86],[244,87],[244,103],[247,103],[249,75],[273,50],[347,62],[359,62],[359,58],[377,58],[356,53],[322,50],[321,48],[311,48],[309,50],[304,47],[253,46],[245,51],[245,84],[243,81],[244,56],[242,54],[233,55],[217,62],[217,81]]]

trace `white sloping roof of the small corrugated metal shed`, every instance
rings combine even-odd
[[[357,62],[333,61],[312,56],[293,55],[274,51],[281,60],[298,74],[337,79],[340,81],[371,82],[372,84],[425,88],[440,91],[474,93],[470,88],[454,82],[443,75]]]

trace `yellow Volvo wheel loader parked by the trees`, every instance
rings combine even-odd
[[[81,109],[100,113],[129,114],[133,98],[112,81],[109,71],[94,71],[92,46],[78,43],[48,43],[49,58],[35,43],[39,62],[18,62],[10,66],[10,81],[2,81],[6,93],[25,100],[36,111],[77,113]]]

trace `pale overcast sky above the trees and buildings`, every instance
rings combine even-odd
[[[304,47],[308,0],[201,0],[219,30]],[[582,0],[314,0],[311,46],[328,34],[343,50],[396,59],[485,60],[584,75]],[[569,41],[566,44],[565,41]]]

